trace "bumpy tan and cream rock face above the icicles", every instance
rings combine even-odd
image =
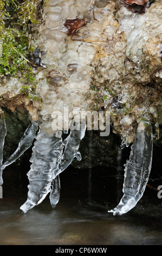
[[[23,105],[32,119],[39,116],[41,129],[50,136],[58,129],[56,112],[92,112],[104,106],[123,145],[134,141],[141,119],[156,124],[159,138],[161,11],[160,0],[142,14],[120,1],[44,1],[44,22],[31,42],[42,52],[42,66],[35,70],[42,101],[23,95],[18,78],[3,77],[1,106],[14,111]]]

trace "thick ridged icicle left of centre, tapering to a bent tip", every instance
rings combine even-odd
[[[27,174],[29,179],[28,199],[20,208],[23,212],[40,204],[51,191],[54,170],[58,168],[62,156],[61,136],[61,131],[56,132],[53,137],[48,137],[48,134],[41,130],[38,133],[30,159],[33,163]]]

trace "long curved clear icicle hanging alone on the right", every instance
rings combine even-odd
[[[142,197],[150,175],[152,164],[152,126],[138,125],[137,136],[132,146],[129,160],[125,165],[124,196],[116,208],[108,212],[122,215],[134,208]]]

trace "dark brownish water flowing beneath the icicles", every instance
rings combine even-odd
[[[116,179],[113,170],[107,174],[101,167],[68,168],[60,179],[56,208],[51,208],[47,196],[27,214],[20,206],[28,184],[4,180],[0,245],[162,245],[162,202],[157,192],[146,188],[134,209],[113,216],[107,210],[122,196],[122,179]]]

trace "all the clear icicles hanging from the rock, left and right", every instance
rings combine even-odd
[[[85,136],[86,125],[82,130],[70,131],[64,141],[62,141],[62,131],[57,131],[54,136],[41,130],[37,133],[37,123],[31,122],[22,137],[18,148],[7,161],[3,161],[3,145],[7,134],[5,119],[0,122],[0,143],[1,143],[1,183],[3,184],[2,171],[12,162],[16,161],[25,150],[31,147],[34,138],[33,154],[30,162],[31,168],[28,172],[29,192],[27,201],[21,206],[23,212],[27,212],[50,193],[50,203],[53,208],[60,198],[60,179],[59,174],[66,169],[73,161],[74,157],[81,160],[79,145]],[[36,134],[37,133],[37,134]],[[145,127],[142,121],[138,125],[137,136],[132,145],[129,160],[125,165],[124,196],[116,208],[108,212],[114,215],[125,214],[137,204],[142,197],[150,175],[152,164],[152,126]]]

